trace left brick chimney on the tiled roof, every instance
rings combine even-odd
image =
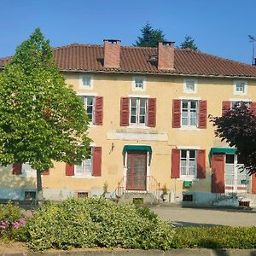
[[[120,48],[120,40],[104,40],[104,67],[120,67]]]

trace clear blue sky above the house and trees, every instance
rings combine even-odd
[[[251,64],[255,0],[1,0],[0,57],[40,27],[52,46],[135,43],[147,21],[179,46],[185,35],[203,52]]]

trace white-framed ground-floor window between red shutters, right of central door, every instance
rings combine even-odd
[[[180,152],[180,177],[196,177],[196,150],[182,149]]]

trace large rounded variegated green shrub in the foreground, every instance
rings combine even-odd
[[[69,247],[168,249],[173,228],[154,213],[104,199],[44,205],[28,224],[33,250]]]

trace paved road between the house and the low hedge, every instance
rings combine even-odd
[[[161,219],[170,220],[176,226],[256,226],[256,212],[230,209],[202,209],[174,206],[150,207]]]

